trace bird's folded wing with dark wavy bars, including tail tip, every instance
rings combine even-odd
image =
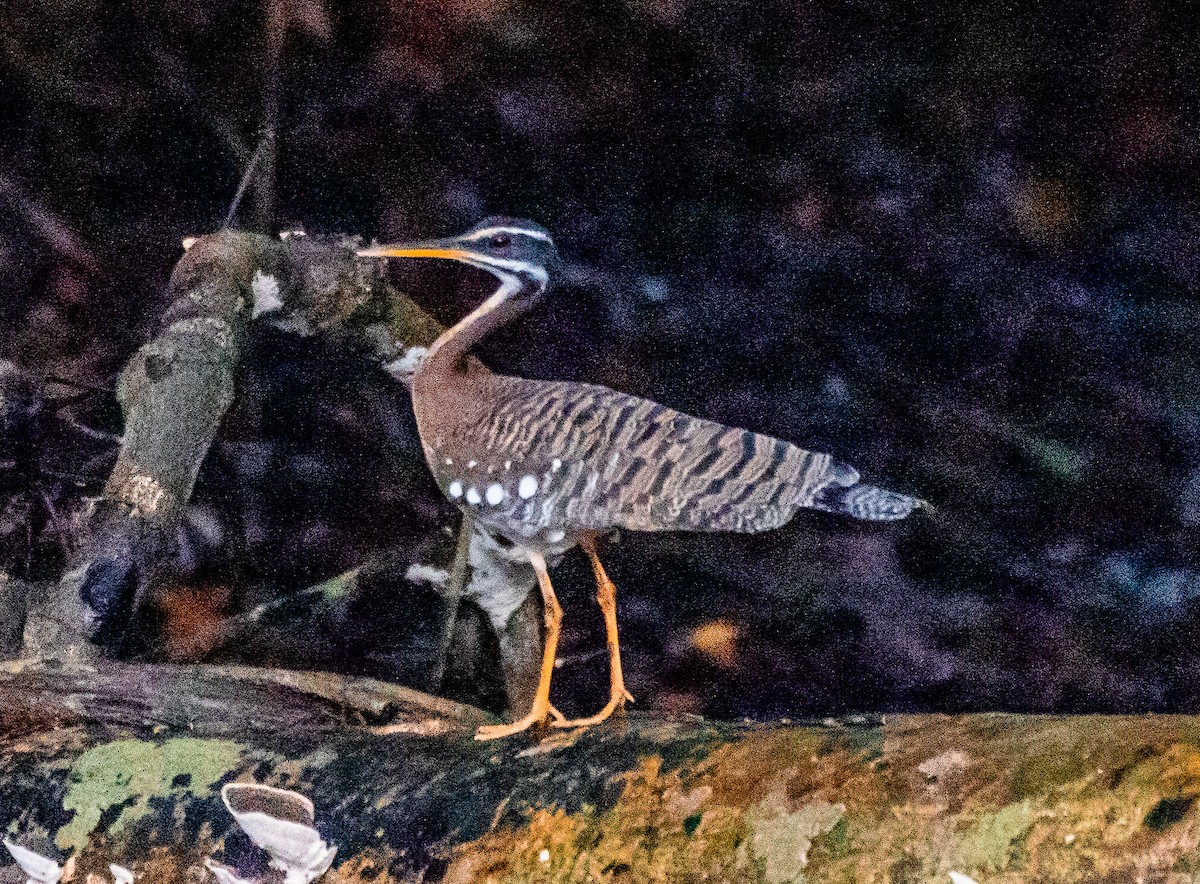
[[[515,464],[512,475],[536,479],[536,493],[504,507],[530,530],[762,531],[802,506],[902,518],[917,504],[857,485],[858,473],[829,455],[649,399],[593,384],[503,381],[473,432]]]

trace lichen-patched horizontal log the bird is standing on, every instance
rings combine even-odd
[[[316,804],[329,882],[1194,882],[1200,718],[635,712],[476,742],[468,706],[370,680],[38,661],[0,669],[6,831],[76,877],[263,858],[220,786]],[[257,867],[256,867],[256,864]]]

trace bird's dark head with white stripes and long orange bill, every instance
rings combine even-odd
[[[368,258],[442,258],[486,270],[515,296],[536,297],[550,284],[558,251],[550,231],[521,218],[493,216],[461,236],[424,242],[372,246],[358,252]]]

